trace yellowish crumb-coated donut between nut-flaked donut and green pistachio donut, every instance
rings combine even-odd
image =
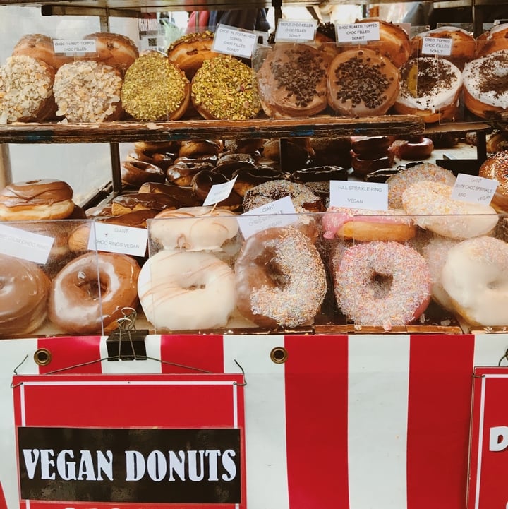
[[[126,112],[136,120],[178,120],[190,101],[191,83],[166,55],[150,51],[127,69],[121,88]]]

